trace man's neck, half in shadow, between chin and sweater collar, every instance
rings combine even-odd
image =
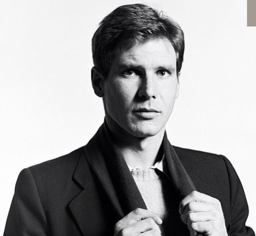
[[[131,167],[147,168],[162,158],[160,145],[163,141],[164,128],[158,134],[150,137],[135,137],[120,130],[122,128],[109,124],[114,141],[122,153],[125,161]]]

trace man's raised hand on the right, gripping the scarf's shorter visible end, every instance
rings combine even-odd
[[[193,191],[180,202],[181,220],[188,225],[190,235],[203,233],[225,236],[225,220],[220,201],[209,195]]]

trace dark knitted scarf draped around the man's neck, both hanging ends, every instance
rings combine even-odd
[[[119,203],[116,202],[115,205],[120,204],[120,207],[118,206],[119,208],[115,206],[118,208],[119,218],[123,218],[136,208],[146,209],[146,204],[142,199],[140,191],[133,180],[132,174],[119,148],[115,145],[112,133],[106,121],[99,128],[96,137],[97,139],[95,139],[93,143],[95,146],[99,145],[100,150],[98,150],[97,155],[101,156],[97,160],[97,166],[103,167],[101,171],[104,172],[105,183],[109,184],[109,186],[114,186],[115,193],[119,200]],[[172,187],[176,190],[177,200],[180,202],[186,195],[196,190],[196,187],[188,176],[183,164],[181,164],[171,143],[168,141],[166,132],[164,133],[162,141],[162,149],[167,175],[172,183]],[[94,148],[94,150],[96,149]],[[99,169],[95,171],[98,173],[101,172]],[[108,191],[106,185],[104,185],[103,188]],[[197,234],[197,236],[201,235],[202,234]]]

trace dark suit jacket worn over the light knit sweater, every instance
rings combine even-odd
[[[222,203],[229,235],[255,235],[245,226],[248,205],[238,176],[221,155],[174,147],[197,190]],[[89,150],[89,152],[88,152]],[[90,142],[68,155],[23,169],[4,236],[113,235],[120,220],[115,187]],[[177,211],[177,208],[175,211]],[[172,235],[189,235],[179,217]]]

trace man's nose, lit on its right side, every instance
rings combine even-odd
[[[146,75],[141,78],[140,89],[138,90],[138,97],[144,100],[157,98],[157,84],[153,75]]]

